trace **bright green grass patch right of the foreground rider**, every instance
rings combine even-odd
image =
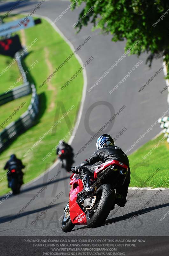
[[[150,140],[129,156],[131,169],[130,187],[169,188],[169,145],[166,141],[160,143],[164,135]],[[156,144],[159,146],[152,149]],[[146,154],[149,156],[143,159]],[[145,182],[157,169],[158,172]]]

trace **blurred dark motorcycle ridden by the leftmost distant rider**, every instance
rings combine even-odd
[[[21,188],[21,179],[20,172],[16,169],[12,169],[9,174],[9,187],[12,189],[13,195],[17,195],[20,193]]]

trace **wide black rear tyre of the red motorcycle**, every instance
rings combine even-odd
[[[96,192],[96,201],[87,211],[86,220],[91,228],[98,227],[107,219],[115,200],[115,191],[110,184],[103,184]]]

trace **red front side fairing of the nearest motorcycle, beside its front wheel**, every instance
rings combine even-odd
[[[73,174],[74,175],[74,174]],[[70,177],[73,178],[73,175]],[[79,205],[76,203],[77,194],[81,192],[83,189],[82,180],[72,180],[72,186],[69,193],[69,210],[70,210],[70,218],[73,224],[77,225],[86,225],[86,215],[81,210]]]

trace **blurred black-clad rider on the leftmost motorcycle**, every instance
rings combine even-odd
[[[4,166],[4,170],[11,171],[12,169],[16,169],[18,172],[18,181],[20,185],[22,185],[23,182],[23,176],[24,173],[22,172],[22,169],[25,168],[25,165],[22,164],[22,161],[16,157],[16,155],[12,154],[10,156],[10,159],[6,162]],[[10,182],[10,172],[7,173],[7,179],[8,179],[8,188],[9,188],[9,182]]]

